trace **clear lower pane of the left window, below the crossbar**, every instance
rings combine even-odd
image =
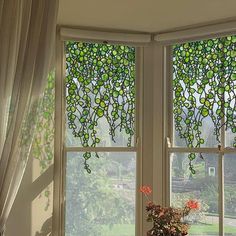
[[[82,153],[66,159],[66,236],[134,236],[136,154],[93,154],[84,170]]]

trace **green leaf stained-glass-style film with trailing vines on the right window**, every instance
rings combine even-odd
[[[175,130],[187,147],[205,143],[202,125],[213,123],[220,143],[222,126],[236,133],[236,36],[173,47],[173,113]],[[222,122],[224,119],[224,122]],[[236,147],[236,138],[232,141]],[[191,161],[196,155],[189,154]]]

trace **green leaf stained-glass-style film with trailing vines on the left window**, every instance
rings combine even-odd
[[[135,48],[67,41],[66,113],[68,128],[82,147],[101,142],[99,121],[109,126],[113,142],[119,132],[135,130]],[[104,120],[105,119],[105,120]],[[90,153],[84,153],[85,168]]]

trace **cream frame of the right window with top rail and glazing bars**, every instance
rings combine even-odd
[[[236,34],[235,22],[222,23],[211,26],[197,27],[195,29],[176,31],[171,33],[164,33],[156,35],[155,41],[164,46],[165,50],[165,76],[164,76],[164,90],[165,90],[165,111],[164,117],[165,132],[165,158],[166,158],[166,181],[165,185],[168,188],[165,190],[164,195],[166,196],[166,205],[171,203],[171,154],[172,153],[214,153],[218,155],[218,186],[219,186],[219,235],[224,235],[224,155],[229,153],[235,153],[236,149],[225,146],[225,129],[224,126],[221,128],[221,148],[218,147],[199,147],[199,148],[188,148],[188,147],[176,147],[173,145],[173,88],[172,88],[172,49],[171,46],[178,43],[185,43],[197,40],[211,39],[216,37],[224,37],[228,35]],[[224,118],[222,119],[224,124]]]

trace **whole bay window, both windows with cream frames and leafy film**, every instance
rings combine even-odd
[[[215,38],[213,26],[153,37],[60,29],[55,235],[144,235],[143,184],[157,204],[200,201],[190,235],[236,235],[227,27]]]

